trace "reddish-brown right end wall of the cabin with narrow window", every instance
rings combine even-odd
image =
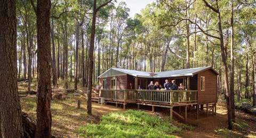
[[[201,91],[201,76],[205,77],[205,90]],[[191,83],[191,82],[190,82]],[[201,72],[197,76],[198,104],[217,102],[217,74],[212,70]]]

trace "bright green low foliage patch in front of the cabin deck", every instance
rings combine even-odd
[[[169,122],[145,111],[127,110],[104,115],[99,124],[82,126],[78,132],[84,137],[174,137],[173,133],[181,133],[182,128]]]

